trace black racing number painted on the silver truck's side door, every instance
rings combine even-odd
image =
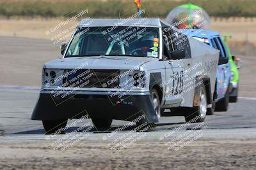
[[[177,95],[181,94],[183,90],[183,84],[184,84],[184,74],[183,71],[177,72],[177,74],[172,75],[171,79],[172,81],[172,94]]]

